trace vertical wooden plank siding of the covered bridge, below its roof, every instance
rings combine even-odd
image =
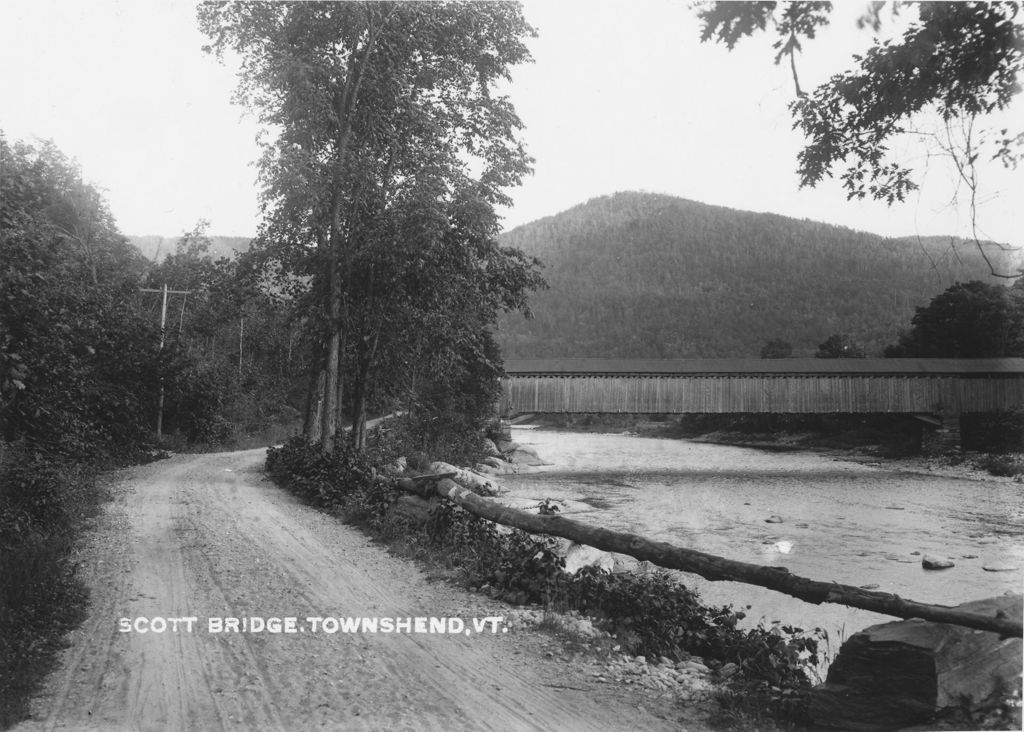
[[[956,376],[511,376],[522,413],[991,412],[1024,404],[1024,378]]]

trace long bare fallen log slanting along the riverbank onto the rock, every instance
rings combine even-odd
[[[798,576],[791,574],[785,567],[739,562],[692,549],[683,549],[667,542],[651,542],[635,533],[589,526],[564,516],[530,514],[481,498],[449,478],[437,481],[436,491],[438,496],[451,499],[471,514],[495,523],[519,528],[528,533],[562,536],[605,552],[627,554],[659,567],[698,574],[713,582],[756,585],[815,605],[828,602],[895,617],[920,617],[933,622],[949,622],[980,631],[991,631],[1007,637],[1024,636],[1024,622],[1019,615],[1009,617],[1006,613],[1001,613],[986,616],[957,607],[904,600],[890,593],[872,592],[850,585],[823,583]]]

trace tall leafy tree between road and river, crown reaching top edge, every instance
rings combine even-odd
[[[396,232],[415,224],[414,243],[455,235],[452,254],[481,281],[495,253],[527,264],[494,241],[494,207],[528,171],[519,120],[494,87],[528,60],[532,31],[518,5],[485,2],[211,3],[199,19],[210,50],[242,57],[238,98],[275,130],[260,163],[259,240],[280,275],[305,284],[307,325],[323,344],[308,399],[323,402],[322,419],[318,429],[307,420],[307,437],[318,432],[331,449],[346,372],[365,383],[381,334],[398,332],[393,309],[368,307],[399,297],[388,291],[402,264],[388,253]],[[468,226],[453,218],[457,204]],[[404,262],[415,266],[413,249]],[[356,388],[359,412],[367,390]]]

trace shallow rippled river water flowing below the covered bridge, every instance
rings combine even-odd
[[[955,605],[1024,589],[1024,486],[898,472],[811,453],[513,428],[551,463],[503,476],[510,496],[565,501],[581,521],[729,559],[787,567],[904,599]],[[771,516],[781,523],[766,523]],[[922,567],[920,552],[952,559]],[[985,571],[983,565],[1018,567]],[[748,622],[822,628],[835,639],[893,619],[681,574],[711,604],[752,605]]]

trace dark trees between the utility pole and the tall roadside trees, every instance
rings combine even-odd
[[[223,444],[295,414],[309,344],[295,333],[292,301],[260,276],[253,254],[213,258],[207,225],[185,232],[143,284],[179,293],[168,307],[164,357],[175,370],[165,380],[165,431]],[[161,295],[147,298],[159,318]]]

